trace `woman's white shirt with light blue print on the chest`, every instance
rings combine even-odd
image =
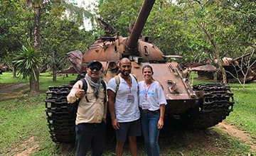
[[[164,90],[159,85],[159,82],[154,81],[146,88],[144,81],[139,82],[139,107],[149,111],[156,111],[159,110],[161,104],[166,105],[167,102]]]

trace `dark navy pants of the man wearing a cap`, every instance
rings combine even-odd
[[[100,156],[103,152],[103,146],[106,136],[106,123],[80,123],[75,126],[75,146],[76,156],[85,156],[92,147],[92,156]]]

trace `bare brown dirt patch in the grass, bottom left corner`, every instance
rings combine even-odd
[[[18,147],[15,147],[9,152],[6,152],[6,155],[28,156],[31,153],[35,152],[38,147],[39,145],[35,142],[35,137],[33,136],[26,140],[23,144],[18,145]]]

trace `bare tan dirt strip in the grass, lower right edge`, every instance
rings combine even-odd
[[[217,126],[215,126],[215,128],[223,131],[223,133],[227,133],[230,136],[238,138],[238,140],[244,141],[247,145],[250,145],[252,151],[256,152],[256,145],[253,145],[252,136],[249,133],[246,133],[245,131],[242,130],[238,130],[237,127],[230,126],[227,123],[225,123],[225,121],[219,123]]]

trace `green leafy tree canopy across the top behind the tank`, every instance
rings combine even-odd
[[[26,8],[28,2],[0,3],[1,62],[12,62],[23,45],[28,48],[37,42],[35,10]],[[39,2],[42,2],[38,49],[42,57],[41,69],[46,66],[55,71],[66,68],[69,65],[65,59],[67,52],[77,49],[85,52],[104,32],[99,26],[88,31],[82,29],[81,19],[92,17],[92,13],[79,9],[73,1]],[[97,0],[94,16],[110,23],[116,34],[119,31],[119,35],[129,36],[129,24],[135,23],[143,2]],[[255,49],[255,6],[255,1],[250,0],[156,0],[142,34],[150,36],[152,43],[165,55],[182,55],[186,62],[235,58]]]

